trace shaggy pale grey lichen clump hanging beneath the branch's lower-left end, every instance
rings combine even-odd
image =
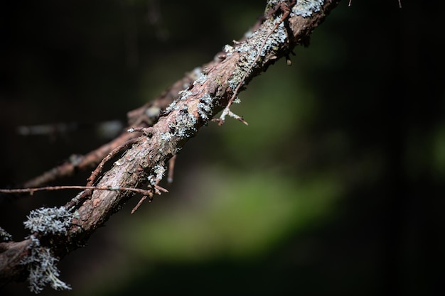
[[[39,293],[43,287],[50,285],[54,290],[71,290],[70,285],[60,280],[60,272],[56,266],[58,258],[55,258],[49,248],[41,246],[40,241],[33,235],[29,237],[31,244],[28,246],[29,254],[21,261],[29,271],[28,283],[31,292]]]

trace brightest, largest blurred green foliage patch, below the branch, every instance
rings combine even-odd
[[[191,194],[200,200],[139,216],[125,227],[137,256],[156,262],[264,256],[326,217],[341,192],[333,178],[296,182],[270,172],[245,175],[205,167],[198,177]]]

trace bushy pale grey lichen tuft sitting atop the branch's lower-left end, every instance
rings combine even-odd
[[[73,219],[73,213],[70,213],[65,207],[41,207],[32,210],[26,218],[27,220],[23,224],[31,232],[66,234],[71,219]]]

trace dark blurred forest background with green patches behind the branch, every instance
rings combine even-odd
[[[0,187],[107,143],[97,124],[157,97],[240,39],[266,1],[1,4]],[[440,295],[443,1],[341,1],[308,48],[256,77],[176,160],[170,191],[112,216],[42,295]],[[74,131],[21,136],[19,126]],[[85,185],[89,172],[58,185]],[[31,209],[0,197],[19,241]],[[28,295],[26,283],[0,295]]]

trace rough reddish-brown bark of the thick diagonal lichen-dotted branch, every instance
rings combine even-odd
[[[198,79],[180,92],[178,99],[161,113],[159,121],[145,133],[129,133],[126,139],[139,138],[110,170],[104,172],[96,185],[112,189],[148,185],[154,190],[164,175],[168,160],[225,108],[235,89],[239,86],[242,89],[280,57],[289,55],[295,45],[306,43],[313,29],[338,4],[337,0],[304,0],[296,1],[296,4],[289,1],[286,4],[289,4],[291,13],[283,21],[286,8],[281,4],[285,2],[269,1],[264,21],[249,38],[233,46],[226,45],[225,53],[205,65]],[[276,27],[277,30],[273,31]],[[180,86],[184,81],[176,83]],[[178,85],[173,88],[177,89]],[[171,96],[171,100],[173,98],[176,96]],[[164,109],[165,105],[159,104],[159,108]],[[134,118],[144,114],[149,106],[153,104],[134,111]],[[149,126],[138,120],[132,124]],[[33,236],[41,239],[41,244],[50,248],[55,256],[62,258],[83,246],[95,229],[117,212],[132,194],[122,190],[94,190],[87,199],[68,204],[77,204],[77,211],[65,234],[35,232]],[[26,278],[28,270],[21,262],[30,255],[28,246],[31,245],[31,239],[0,243],[1,285]]]

